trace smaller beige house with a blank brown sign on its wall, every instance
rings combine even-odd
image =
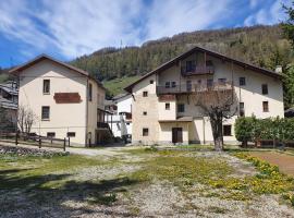
[[[71,144],[99,143],[103,123],[105,88],[87,72],[48,56],[11,71],[19,76],[19,107],[36,116],[32,132]]]

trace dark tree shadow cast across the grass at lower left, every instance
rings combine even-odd
[[[127,186],[138,181],[126,177],[97,182],[66,181],[70,174],[29,175],[23,173],[26,170],[0,171],[0,217],[15,216],[14,213],[20,211],[22,217],[42,217],[42,213],[49,217],[78,217],[93,213],[113,217],[130,216],[110,208],[117,203],[118,193],[126,192]],[[60,185],[50,186],[50,183]],[[69,206],[69,202],[74,206]],[[95,210],[91,206],[95,206]]]

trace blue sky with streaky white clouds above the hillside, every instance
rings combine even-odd
[[[289,0],[2,0],[0,66],[39,53],[63,61],[182,32],[285,19]]]

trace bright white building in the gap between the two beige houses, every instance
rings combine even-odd
[[[132,135],[132,96],[121,94],[106,102],[105,121],[115,137]]]

